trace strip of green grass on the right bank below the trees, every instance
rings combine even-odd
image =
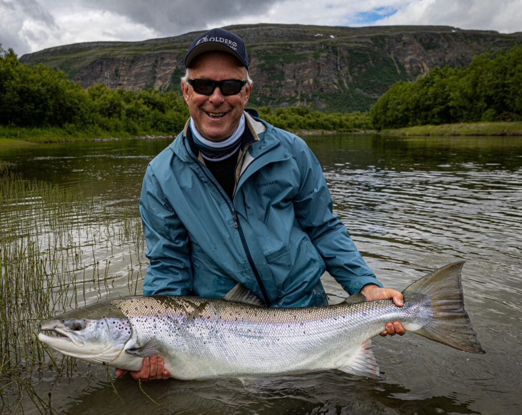
[[[383,135],[399,136],[519,136],[522,135],[522,122],[480,122],[442,125],[422,125],[417,127],[383,129]]]

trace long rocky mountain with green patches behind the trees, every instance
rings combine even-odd
[[[390,85],[434,66],[463,66],[473,55],[512,48],[522,32],[442,26],[231,26],[246,42],[254,91],[250,104],[306,105],[329,111],[366,111]],[[87,88],[179,90],[184,56],[199,32],[141,42],[58,46],[20,58],[64,70]]]

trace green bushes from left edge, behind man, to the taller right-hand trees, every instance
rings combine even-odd
[[[368,114],[333,114],[309,108],[262,107],[260,115],[278,127],[299,130],[370,129]],[[112,90],[104,85],[82,89],[62,71],[23,65],[0,45],[0,125],[60,127],[66,131],[177,134],[189,117],[179,92]]]

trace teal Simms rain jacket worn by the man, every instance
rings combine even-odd
[[[140,198],[144,294],[220,298],[240,282],[269,306],[326,305],[326,269],[350,294],[382,287],[333,215],[309,147],[245,116],[256,141],[240,157],[233,200],[191,151],[187,127],[150,162]]]

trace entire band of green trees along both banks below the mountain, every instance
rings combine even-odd
[[[289,131],[352,132],[426,124],[522,120],[522,47],[473,58],[462,68],[433,68],[397,82],[369,113],[326,113],[306,107],[258,108]],[[177,91],[83,89],[62,71],[23,65],[0,44],[0,125],[59,127],[71,134],[177,134],[188,109]]]

